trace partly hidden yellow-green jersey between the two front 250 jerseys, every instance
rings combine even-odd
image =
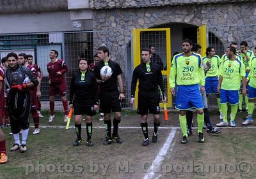
[[[204,64],[210,62],[211,68],[207,71],[205,77],[213,77],[219,76],[219,67],[220,67],[220,57],[218,55],[214,55],[211,59],[207,58],[207,56],[203,57]]]

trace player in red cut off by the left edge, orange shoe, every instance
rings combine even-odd
[[[2,120],[4,112],[4,70],[0,67],[0,118]],[[4,132],[0,128],[0,164],[5,164],[8,161],[6,155],[6,145]]]

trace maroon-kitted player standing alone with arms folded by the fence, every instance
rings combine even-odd
[[[60,94],[61,101],[65,112],[64,122],[68,120],[68,103],[66,97],[66,82],[65,73],[68,71],[67,64],[61,59],[57,59],[58,51],[51,50],[49,57],[51,62],[47,64],[47,71],[49,73],[49,95],[50,95],[50,110],[49,122],[52,122],[54,115],[54,97]]]

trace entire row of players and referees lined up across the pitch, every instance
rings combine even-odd
[[[188,136],[192,134],[193,109],[197,110],[198,141],[204,143],[202,129],[207,132],[220,133],[220,129],[213,127],[209,118],[207,96],[215,94],[220,111],[220,123],[217,126],[236,126],[237,111],[242,110],[243,96],[245,98],[248,117],[243,125],[252,124],[252,114],[256,98],[256,57],[247,50],[246,41],[240,43],[241,52],[237,50],[237,43],[231,43],[220,58],[215,54],[214,47],[207,47],[205,57],[201,57],[200,45],[193,45],[190,39],[182,41],[182,53],[173,56],[170,70],[170,90],[176,97],[175,108],[179,110],[179,122],[182,131],[181,143],[188,143]],[[122,143],[118,134],[118,124],[121,121],[121,104],[124,99],[122,69],[109,57],[109,49],[101,46],[90,65],[83,56],[78,59],[77,73],[72,76],[70,83],[70,109],[74,110],[74,122],[77,138],[73,143],[78,146],[82,142],[81,123],[86,122],[86,145],[92,147],[92,117],[100,111],[100,120],[104,120],[106,140],[104,145],[113,141]],[[49,122],[53,122],[54,97],[61,96],[65,111],[64,122],[68,121],[68,102],[66,97],[65,73],[67,64],[58,59],[58,52],[49,52],[50,62],[47,64],[49,73],[49,103],[51,115]],[[33,64],[33,56],[9,53],[2,59],[0,68],[0,117],[1,127],[11,127],[14,144],[11,151],[26,152],[26,140],[29,131],[29,115],[31,113],[35,131],[39,134],[40,113],[40,82],[42,71]],[[152,143],[157,142],[160,125],[160,101],[166,102],[164,92],[163,62],[156,54],[156,48],[141,50],[141,64],[133,71],[131,82],[131,104],[134,104],[135,91],[138,85],[138,114],[143,131],[143,146],[150,143],[148,137],[148,112],[154,118]],[[160,95],[159,95],[160,94]],[[230,123],[227,120],[228,106],[231,106]],[[113,132],[111,133],[111,112],[114,113]],[[3,123],[4,116],[4,123]],[[10,118],[10,123],[9,119]],[[20,134],[22,136],[20,142]],[[8,162],[6,155],[4,132],[0,128],[0,163]]]

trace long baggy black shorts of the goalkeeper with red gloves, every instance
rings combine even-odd
[[[20,129],[28,129],[31,109],[29,92],[11,93],[7,97],[7,103],[9,104],[11,131],[13,134],[19,133]]]

